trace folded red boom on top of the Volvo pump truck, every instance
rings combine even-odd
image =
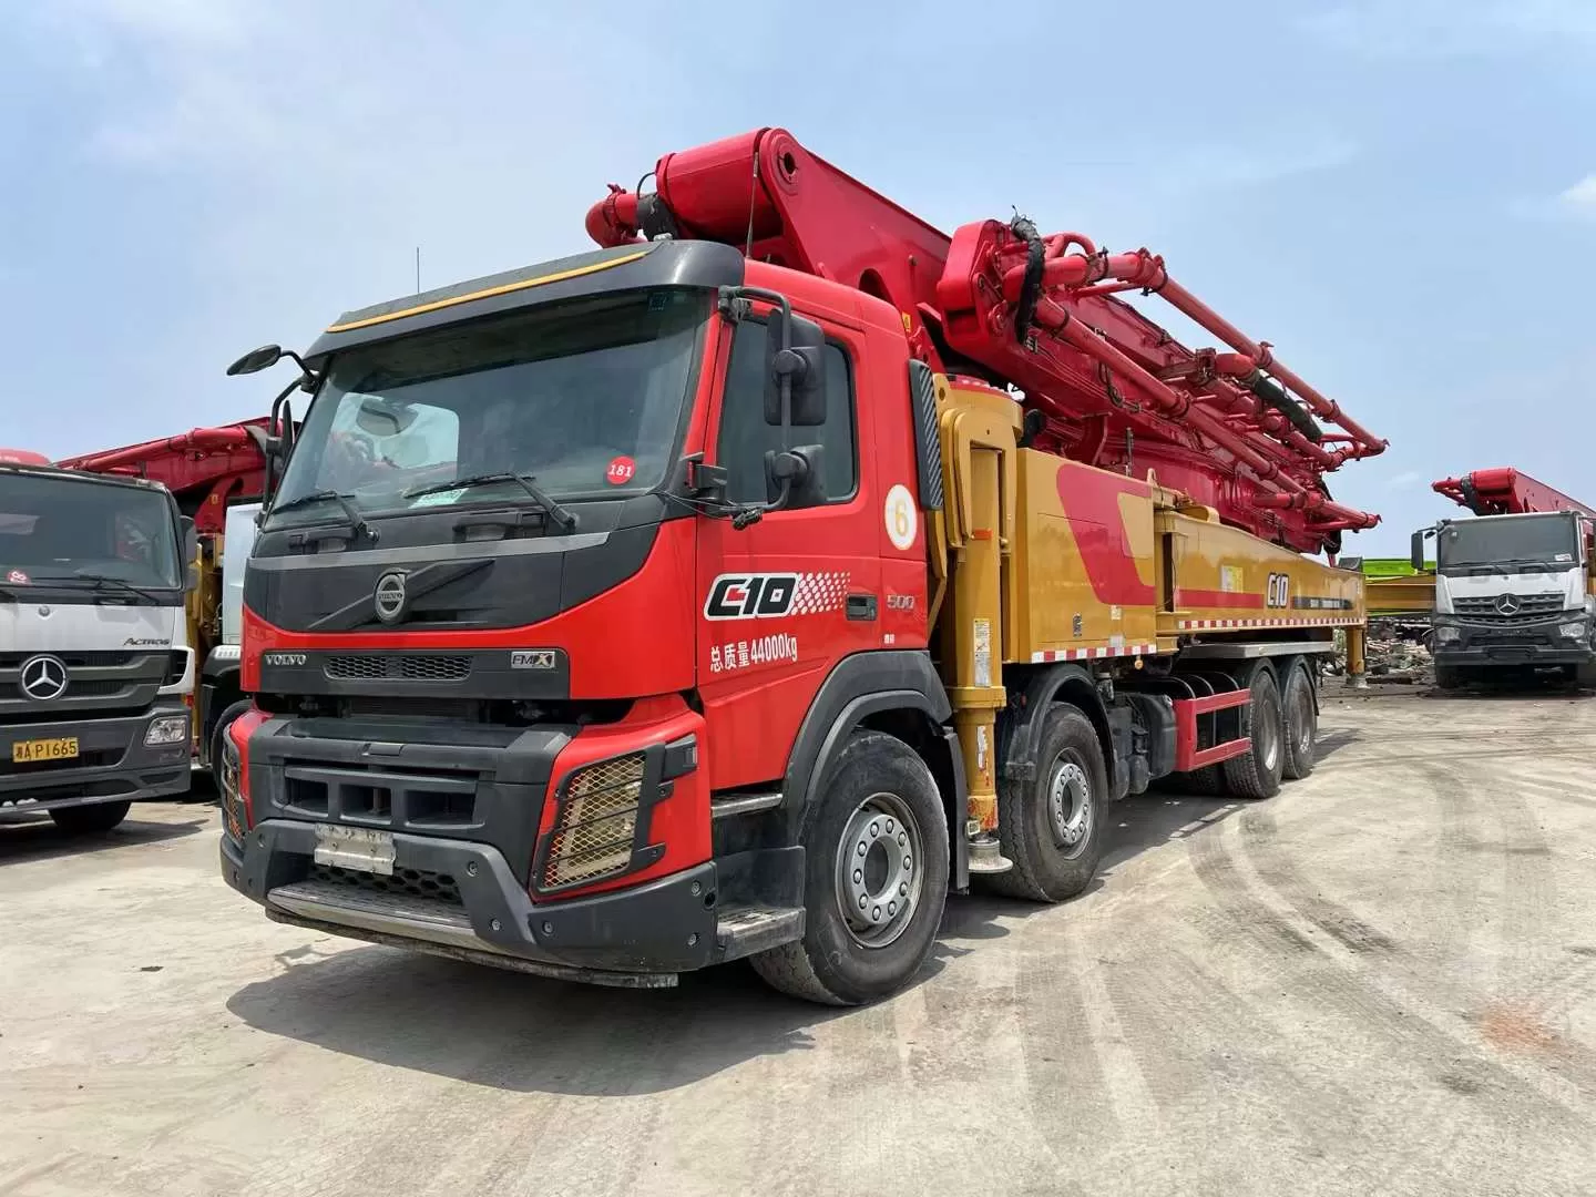
[[[1170,278],[1146,249],[1108,254],[1028,220],[950,238],[804,150],[758,129],[669,153],[654,192],[587,212],[600,246],[672,235],[844,282],[892,303],[934,369],[1012,386],[1034,440],[1077,461],[1157,480],[1301,552],[1379,522],[1329,498],[1323,476],[1385,440]],[[1117,298],[1159,295],[1229,346],[1187,350]],[[1339,431],[1325,431],[1321,421]]]

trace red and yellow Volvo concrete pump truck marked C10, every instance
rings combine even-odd
[[[342,316],[244,578],[222,871],[544,975],[862,1002],[972,876],[1058,902],[1159,777],[1314,768],[1384,442],[1170,278],[951,238],[761,129],[587,252]],[[1120,294],[1213,332],[1192,351]],[[281,464],[281,472],[278,472]]]

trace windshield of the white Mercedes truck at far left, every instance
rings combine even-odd
[[[180,555],[166,492],[0,471],[0,584],[179,589]]]

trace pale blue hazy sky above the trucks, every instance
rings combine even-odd
[[[1596,500],[1593,0],[6,8],[0,444],[259,413],[286,378],[227,362],[417,244],[426,286],[579,251],[606,182],[782,124],[946,230],[1163,254],[1390,437],[1331,479],[1385,517],[1352,552],[1475,466]]]

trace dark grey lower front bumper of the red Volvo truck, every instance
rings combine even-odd
[[[279,922],[608,985],[672,985],[803,934],[801,910],[753,927],[747,911],[720,908],[715,862],[535,905],[490,844],[396,833],[391,879],[314,865],[314,824],[268,819],[243,843],[222,836],[222,875]]]

